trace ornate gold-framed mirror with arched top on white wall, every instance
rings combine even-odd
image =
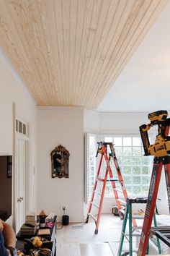
[[[68,178],[68,163],[70,153],[59,145],[51,153],[52,178]]]

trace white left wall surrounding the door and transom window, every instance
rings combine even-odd
[[[29,202],[30,210],[35,210],[35,170],[36,170],[36,119],[37,106],[30,93],[25,89],[12,64],[0,48],[0,155],[13,155],[13,103],[17,114],[30,121],[30,176],[32,184]],[[14,174],[13,174],[14,177]],[[13,187],[14,190],[14,187]],[[33,193],[33,194],[32,194]],[[34,195],[34,197],[32,196]],[[27,199],[26,199],[27,200]],[[14,209],[13,209],[14,210]],[[14,216],[13,216],[14,218]]]

